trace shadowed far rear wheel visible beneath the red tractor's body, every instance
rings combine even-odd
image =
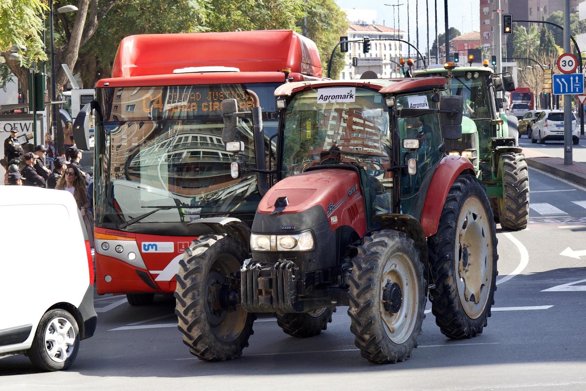
[[[300,338],[307,338],[319,335],[322,330],[328,328],[332,322],[332,314],[336,308],[324,307],[312,312],[301,314],[275,314],[277,325],[283,329],[285,334]]]

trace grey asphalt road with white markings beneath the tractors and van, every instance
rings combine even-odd
[[[496,303],[476,338],[450,341],[428,314],[410,359],[373,365],[338,308],[311,339],[259,319],[241,358],[208,363],[183,345],[172,298],[131,307],[96,296],[96,335],[69,370],[36,373],[24,356],[1,358],[0,390],[584,390],[586,191],[535,170],[530,187],[529,228],[499,230]]]

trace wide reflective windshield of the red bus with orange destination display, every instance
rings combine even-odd
[[[247,85],[114,87],[98,89],[103,120],[96,125],[96,226],[151,233],[203,217],[252,214],[260,195],[253,174],[233,179],[233,153],[222,142],[222,100],[236,99],[248,111],[254,90],[263,106],[265,155],[277,130],[277,83]],[[247,166],[255,166],[251,120],[239,124]],[[175,223],[162,225],[161,223]],[[167,229],[168,228],[168,229]]]

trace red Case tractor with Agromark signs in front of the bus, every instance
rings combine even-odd
[[[449,338],[482,333],[496,290],[496,228],[471,162],[446,156],[459,139],[463,100],[444,77],[286,83],[275,91],[275,156],[241,156],[239,113],[223,101],[232,176],[257,175],[251,227],[202,218],[210,234],[179,262],[176,314],[183,342],[202,360],[242,354],[257,312],[289,335],[326,329],[348,306],[350,330],[373,363],[417,347],[425,303]],[[268,168],[265,166],[268,161]],[[274,168],[271,168],[273,167]]]

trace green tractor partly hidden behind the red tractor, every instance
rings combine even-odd
[[[502,100],[496,95],[515,90],[512,76],[455,63],[432,67],[414,70],[413,76],[444,76],[447,93],[463,96],[465,102],[462,138],[445,140],[447,153],[471,160],[502,228],[523,230],[529,220],[529,170],[518,144],[517,119],[500,110]]]

